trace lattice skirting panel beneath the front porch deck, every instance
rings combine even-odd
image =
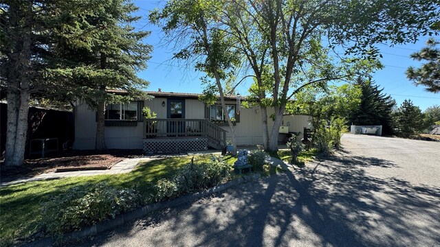
[[[201,151],[208,149],[208,138],[186,137],[186,138],[153,138],[143,139],[143,150],[145,154],[176,153],[188,151]]]

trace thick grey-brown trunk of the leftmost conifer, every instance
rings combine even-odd
[[[10,5],[10,56],[6,62],[8,71],[7,101],[8,126],[6,127],[5,165],[23,165],[26,134],[28,133],[28,112],[30,101],[30,67],[32,44],[32,4],[21,9]]]

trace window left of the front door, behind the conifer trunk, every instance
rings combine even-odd
[[[106,120],[137,120],[137,102],[122,104],[107,104],[105,106]]]

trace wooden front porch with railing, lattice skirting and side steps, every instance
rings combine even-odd
[[[221,150],[226,132],[208,119],[146,119],[143,149],[147,154]]]

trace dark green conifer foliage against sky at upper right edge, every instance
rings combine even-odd
[[[440,49],[436,48],[439,44],[439,40],[428,39],[427,47],[411,54],[412,59],[426,60],[426,63],[418,69],[409,67],[406,70],[408,80],[412,80],[416,86],[426,86],[426,91],[432,93],[440,92]]]

